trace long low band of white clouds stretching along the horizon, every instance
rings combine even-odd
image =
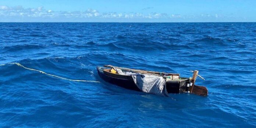
[[[153,7],[150,7],[153,8]],[[0,6],[0,22],[193,22],[194,19],[209,19],[216,21],[223,16],[215,14],[180,15],[167,13],[100,13],[94,9],[86,11],[54,11],[46,10],[42,6],[37,8],[24,8],[22,6]],[[206,21],[207,22],[207,21]]]

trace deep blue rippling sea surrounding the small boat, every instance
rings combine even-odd
[[[0,23],[0,127],[256,127],[256,23]],[[209,96],[104,82],[96,66],[199,70]]]

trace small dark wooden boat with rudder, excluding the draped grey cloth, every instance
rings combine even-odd
[[[134,83],[131,75],[121,75],[111,73],[112,65],[104,65],[103,67],[97,66],[97,71],[104,81],[121,86],[126,89],[141,91],[137,85]],[[208,90],[204,86],[195,85],[196,77],[198,76],[198,71],[194,71],[192,79],[179,77],[179,74],[164,73],[164,72],[154,72],[145,70],[135,70],[130,68],[119,68],[122,71],[130,71],[141,74],[152,74],[166,78],[166,90],[168,93],[191,93],[201,96],[207,96]]]

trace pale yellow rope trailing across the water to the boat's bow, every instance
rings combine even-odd
[[[65,80],[68,80],[68,81],[77,81],[77,82],[97,82],[97,83],[99,83],[99,81],[85,81],[85,80],[76,80],[76,79],[67,79],[67,78],[63,78],[63,77],[58,77],[57,75],[51,75],[51,74],[48,74],[48,73],[43,72],[43,71],[40,71],[40,70],[35,70],[35,69],[32,69],[32,68],[26,68],[26,67],[24,67],[23,65],[21,65],[21,64],[19,64],[19,63],[8,63],[8,64],[16,64],[16,65],[18,65],[19,67],[25,68],[25,69],[27,69],[27,70],[37,71],[37,72],[40,72],[40,73],[42,73],[42,74],[49,75],[49,76],[51,76],[51,77],[57,77],[57,78],[65,79]],[[7,65],[7,64],[0,64],[0,66],[3,66],[3,65]]]

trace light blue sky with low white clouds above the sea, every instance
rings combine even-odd
[[[0,0],[0,22],[256,22],[256,0]]]

